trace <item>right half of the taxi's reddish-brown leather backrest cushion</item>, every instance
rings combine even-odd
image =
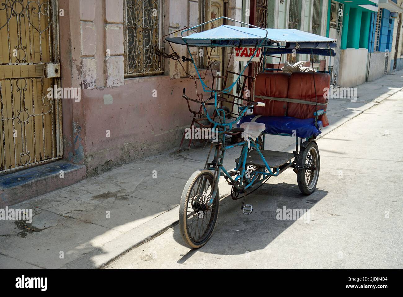
[[[315,73],[314,76],[318,103],[327,103],[327,99],[325,99],[323,95],[325,93],[325,88],[330,87],[330,75],[328,73]],[[312,73],[294,72],[293,74],[291,74],[287,96],[288,98],[315,102],[315,88]],[[318,105],[318,110],[321,109],[326,111],[326,106]],[[287,116],[292,116],[294,118],[300,119],[314,118],[315,111],[315,105],[289,102]],[[328,126],[329,124],[326,114],[319,116],[318,120],[322,121],[324,127]]]

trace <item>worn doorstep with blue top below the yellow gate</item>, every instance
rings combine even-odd
[[[85,179],[85,174],[85,165],[59,160],[2,175],[0,208],[72,185]]]

